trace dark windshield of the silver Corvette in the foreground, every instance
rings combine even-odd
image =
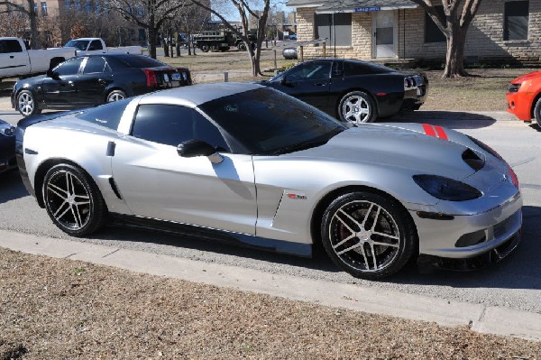
[[[272,88],[209,101],[201,110],[253,154],[297,152],[328,142],[346,126]]]

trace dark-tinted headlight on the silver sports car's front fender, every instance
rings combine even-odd
[[[468,184],[443,176],[414,175],[413,180],[421,189],[442,200],[464,201],[480,198],[482,195],[481,191]]]

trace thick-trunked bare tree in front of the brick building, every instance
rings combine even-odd
[[[479,10],[482,0],[411,0],[426,10],[426,13],[436,23],[436,26],[445,34],[447,40],[447,53],[445,56],[444,78],[463,77],[464,45],[466,32]],[[462,4],[463,3],[463,4]],[[437,5],[444,6],[444,14],[436,11]],[[461,12],[462,10],[462,12]]]

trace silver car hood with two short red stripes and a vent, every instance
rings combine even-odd
[[[366,124],[337,134],[325,145],[290,155],[371,163],[463,180],[476,172],[463,160],[468,149],[485,161],[466,135],[453,130],[423,124]]]

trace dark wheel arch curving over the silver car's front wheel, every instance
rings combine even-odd
[[[349,185],[345,186],[343,188],[337,188],[333,189],[332,191],[326,193],[326,195],[323,198],[320,198],[319,201],[316,204],[316,207],[314,208],[314,211],[312,212],[312,217],[310,218],[310,235],[312,237],[312,245],[313,246],[321,246],[322,245],[322,239],[321,239],[321,219],[323,218],[323,214],[325,213],[326,208],[333,202],[335,198],[340,197],[341,195],[347,194],[349,192],[354,191],[364,191],[364,192],[371,192],[372,194],[380,195],[384,198],[388,198],[394,203],[396,203],[399,208],[403,210],[405,214],[408,216],[408,221],[412,227],[413,232],[415,233],[417,237],[417,247],[415,249],[416,253],[419,254],[418,250],[418,231],[417,226],[415,224],[415,221],[409,214],[409,211],[407,208],[402,205],[402,203],[390,193],[383,191],[381,189],[376,189],[371,186],[366,185]]]

